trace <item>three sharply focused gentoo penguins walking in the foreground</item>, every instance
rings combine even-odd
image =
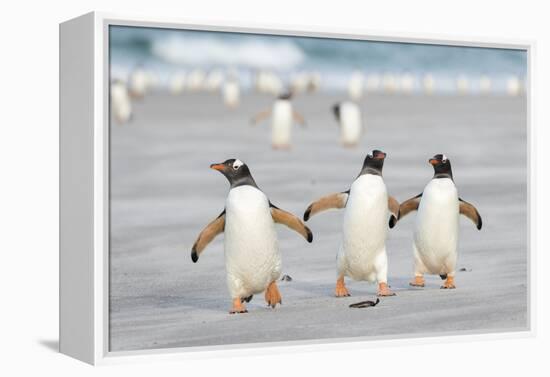
[[[345,278],[377,284],[378,296],[394,296],[388,283],[386,238],[390,229],[417,211],[413,233],[414,276],[409,283],[424,287],[425,274],[439,275],[442,289],[454,289],[459,238],[459,216],[470,219],[481,230],[481,216],[474,205],[458,195],[451,161],[444,154],[428,160],[434,175],[424,190],[402,203],[388,194],[382,171],[387,154],[367,154],[358,176],[346,191],[323,196],[306,207],[302,219],[272,203],[256,184],[252,173],[239,159],[228,159],[210,167],[229,181],[224,209],[199,234],[191,249],[193,262],[206,246],[224,233],[230,313],[246,313],[246,303],[264,292],[265,302],[275,308],[282,303],[277,281],[282,259],[275,224],[286,225],[313,242],[305,225],[312,216],[330,209],[344,210],[342,241],[336,258],[336,297],[350,296]]]

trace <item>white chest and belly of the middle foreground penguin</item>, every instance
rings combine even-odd
[[[341,249],[350,276],[366,279],[375,268],[377,256],[385,253],[388,217],[388,194],[382,177],[365,174],[357,178],[346,204]]]

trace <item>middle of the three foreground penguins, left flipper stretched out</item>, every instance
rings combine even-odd
[[[379,296],[393,296],[388,287],[386,237],[397,222],[399,203],[388,196],[382,179],[386,154],[372,151],[363,162],[359,176],[345,192],[322,197],[304,213],[304,220],[316,213],[345,208],[343,238],[337,257],[336,297],[349,296],[344,276],[378,282]]]

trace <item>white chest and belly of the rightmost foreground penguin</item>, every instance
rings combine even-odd
[[[432,273],[452,272],[459,225],[458,193],[449,178],[432,179],[424,189],[416,217],[414,242]]]

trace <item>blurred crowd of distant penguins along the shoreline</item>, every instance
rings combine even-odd
[[[249,80],[247,80],[246,76]],[[166,90],[173,96],[183,93],[218,93],[221,103],[228,111],[236,111],[242,106],[243,94],[250,84],[258,94],[273,98],[269,109],[258,112],[251,119],[256,125],[262,120],[270,119],[270,142],[274,150],[288,151],[292,148],[293,128],[296,124],[305,127],[306,120],[294,106],[297,95],[315,94],[322,88],[323,77],[316,71],[297,71],[285,78],[281,73],[267,70],[243,71],[235,67],[210,70],[193,68],[185,72],[177,70],[168,77]],[[366,122],[363,116],[365,94],[382,93],[390,95],[413,95],[451,90],[458,95],[489,95],[495,92],[495,85],[487,74],[479,78],[459,74],[452,84],[445,84],[427,72],[423,77],[411,72],[383,72],[366,74],[361,69],[350,72],[345,89],[347,96],[342,96],[330,110],[338,126],[337,140],[344,148],[357,148],[366,135]],[[126,80],[114,79],[111,83],[111,113],[116,124],[125,124],[134,119],[133,102],[140,101],[158,86],[157,77],[142,65],[138,65]],[[498,91],[498,89],[496,89]],[[506,81],[506,93],[519,96],[524,92],[523,80],[510,76]],[[336,134],[336,132],[335,132]],[[336,136],[336,135],[335,135]],[[336,139],[336,138],[335,138]]]

